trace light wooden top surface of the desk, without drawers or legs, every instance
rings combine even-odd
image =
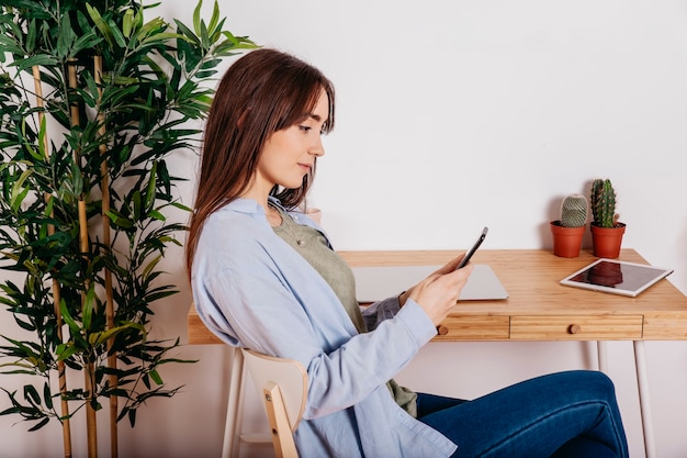
[[[339,252],[351,266],[442,265],[462,252]],[[487,264],[509,293],[507,300],[465,301],[452,314],[652,314],[687,316],[687,297],[669,281],[661,280],[637,298],[565,287],[560,281],[597,258],[583,250],[562,258],[543,249],[484,249],[472,258]],[[620,259],[647,264],[634,249],[622,249]]]

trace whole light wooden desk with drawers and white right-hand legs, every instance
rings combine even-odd
[[[462,252],[340,252],[351,266],[442,265]],[[637,298],[563,287],[567,275],[596,258],[583,252],[560,258],[549,250],[480,250],[474,264],[487,264],[509,293],[504,301],[459,302],[436,340],[633,340],[644,447],[655,457],[645,366],[644,340],[687,339],[687,298],[661,280]],[[646,264],[633,249],[620,259]],[[189,343],[217,344],[193,308]],[[606,368],[599,342],[599,367]]]

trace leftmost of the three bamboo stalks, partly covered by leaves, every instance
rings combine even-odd
[[[44,108],[43,102],[43,86],[41,81],[41,68],[37,65],[33,66],[33,81],[36,91],[36,105],[41,109]],[[38,125],[43,125],[45,119],[45,113],[43,110],[38,111]],[[46,158],[49,156],[48,149],[48,138],[47,135],[43,138],[43,148],[45,149]],[[45,193],[44,199],[47,202],[53,198],[53,196],[48,192]],[[53,213],[50,213],[50,217]],[[49,224],[47,227],[48,235],[55,234],[55,226]],[[63,315],[59,310],[59,303],[61,301],[61,291],[59,281],[53,278],[53,306],[55,309],[55,320],[57,322],[57,339],[63,343]],[[59,384],[59,393],[60,393],[60,414],[61,414],[61,425],[63,425],[63,448],[65,451],[65,458],[71,458],[71,422],[69,420],[69,402],[67,401],[67,372],[65,370],[65,361],[57,361],[57,379]]]

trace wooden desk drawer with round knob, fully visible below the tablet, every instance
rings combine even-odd
[[[514,340],[606,340],[642,338],[642,315],[513,316]]]

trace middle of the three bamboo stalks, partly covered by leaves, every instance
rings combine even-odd
[[[77,88],[77,62],[76,59],[69,59],[67,64],[67,72],[69,78],[69,88]],[[70,104],[70,121],[71,126],[79,125],[79,107],[76,103]],[[74,152],[74,160],[77,165],[80,164],[79,152]],[[82,196],[79,196],[78,202],[79,212],[79,242],[81,253],[87,257],[89,252],[88,239],[88,215],[86,213],[86,201]],[[85,284],[85,291],[81,293],[81,306],[86,304],[86,291],[88,291],[89,284]],[[86,402],[86,431],[87,431],[87,444],[88,444],[88,457],[98,457],[98,417],[93,404],[95,403],[95,366],[90,359],[85,361],[83,370],[83,384],[85,390],[88,393]]]

